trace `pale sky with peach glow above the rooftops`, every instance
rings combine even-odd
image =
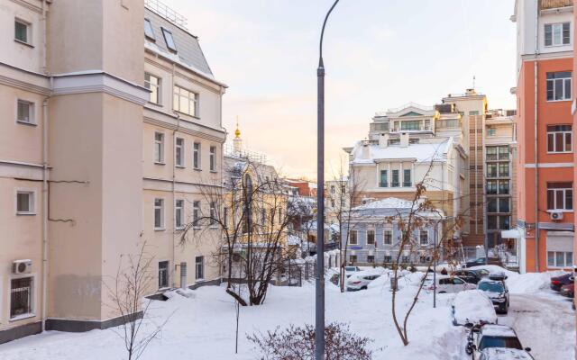
[[[188,18],[215,77],[229,85],[246,148],[283,175],[316,178],[318,38],[333,0],[164,0]],[[325,31],[326,176],[365,139],[375,112],[440,103],[472,86],[514,108],[514,0],[341,0]]]

